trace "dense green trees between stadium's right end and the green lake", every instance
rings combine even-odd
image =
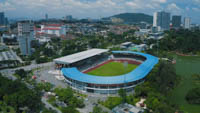
[[[154,113],[174,113],[176,108],[166,96],[177,83],[177,75],[173,65],[161,61],[146,77],[146,81],[135,87],[136,97],[145,97],[147,108]]]

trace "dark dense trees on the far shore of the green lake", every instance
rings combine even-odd
[[[200,49],[199,30],[170,30],[159,45],[161,50],[196,54]]]

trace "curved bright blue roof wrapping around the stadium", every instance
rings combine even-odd
[[[147,74],[153,69],[153,67],[158,63],[158,58],[149,54],[132,52],[132,51],[112,51],[113,53],[129,53],[136,54],[146,57],[146,60],[140,64],[132,72],[112,77],[102,77],[88,75],[80,72],[77,68],[63,68],[62,73],[64,76],[71,78],[73,80],[81,81],[84,83],[92,84],[123,84],[128,82],[137,81],[143,79]]]

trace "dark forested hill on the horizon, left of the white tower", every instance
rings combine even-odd
[[[139,23],[139,22],[147,22],[153,23],[153,16],[144,14],[144,13],[121,13],[111,17],[103,18],[103,19],[110,19],[112,17],[120,18],[125,23]]]

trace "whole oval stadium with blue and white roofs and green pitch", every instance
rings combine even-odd
[[[132,51],[90,49],[54,62],[71,88],[88,93],[116,94],[119,89],[133,91],[158,63],[158,58]]]

